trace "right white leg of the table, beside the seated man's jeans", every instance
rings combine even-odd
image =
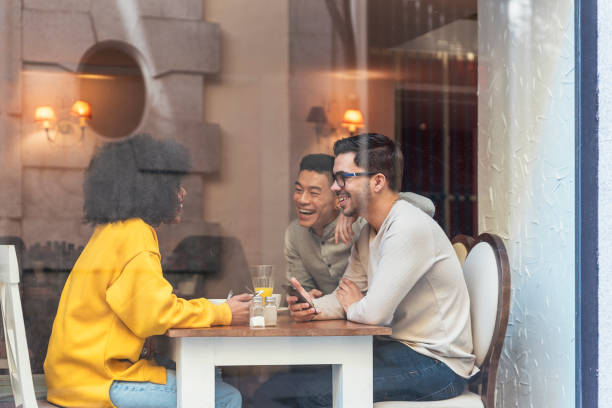
[[[371,407],[372,337],[355,337],[350,348],[350,358],[332,365],[334,408]]]

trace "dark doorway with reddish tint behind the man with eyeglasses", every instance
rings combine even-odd
[[[430,85],[420,82],[396,90],[397,130],[405,158],[402,191],[433,200],[435,218],[449,236],[475,235],[477,63],[429,58],[417,64],[425,65],[422,73],[431,81],[424,82]]]

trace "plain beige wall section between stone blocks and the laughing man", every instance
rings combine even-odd
[[[284,271],[289,222],[288,3],[204,0],[221,27],[221,72],[207,81],[204,120],[221,128],[221,170],[205,178],[204,219],[239,238],[249,263]]]

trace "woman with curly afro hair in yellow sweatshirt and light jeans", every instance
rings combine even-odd
[[[176,375],[141,358],[145,339],[173,327],[248,321],[250,295],[185,300],[164,279],[155,228],[179,222],[190,160],[172,140],[107,143],[85,173],[84,218],[95,230],[62,291],[45,359],[47,399],[63,407],[176,407]],[[218,377],[217,407],[240,407]]]

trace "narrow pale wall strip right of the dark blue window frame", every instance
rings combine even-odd
[[[599,75],[599,406],[612,406],[612,3],[597,2]]]

